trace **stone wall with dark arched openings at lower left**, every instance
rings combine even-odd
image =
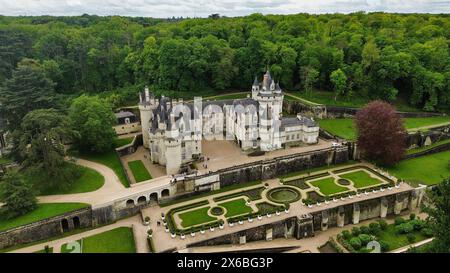
[[[67,224],[63,224],[63,222]],[[0,232],[0,249],[45,240],[76,228],[88,227],[92,227],[92,210],[90,207],[2,231]]]

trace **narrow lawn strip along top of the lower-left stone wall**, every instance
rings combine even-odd
[[[66,212],[89,206],[84,203],[45,203],[38,204],[37,209],[12,219],[0,218],[0,231],[30,224],[39,220],[61,215]]]

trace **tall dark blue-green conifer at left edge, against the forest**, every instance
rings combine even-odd
[[[48,108],[54,104],[54,83],[45,76],[40,65],[29,59],[22,60],[12,78],[0,88],[0,114],[16,129],[29,111]]]

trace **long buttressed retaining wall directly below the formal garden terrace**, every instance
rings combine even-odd
[[[265,224],[216,238],[196,242],[187,247],[211,246],[221,244],[242,244],[258,240],[276,238],[305,238],[330,227],[357,224],[364,220],[399,215],[415,209],[420,204],[423,189],[411,189],[401,193],[388,194],[364,201],[324,208],[311,214],[292,216],[277,222]]]

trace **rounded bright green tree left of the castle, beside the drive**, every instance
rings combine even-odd
[[[69,109],[72,128],[79,133],[76,145],[85,151],[105,152],[112,148],[116,119],[111,106],[97,96],[82,95]]]

